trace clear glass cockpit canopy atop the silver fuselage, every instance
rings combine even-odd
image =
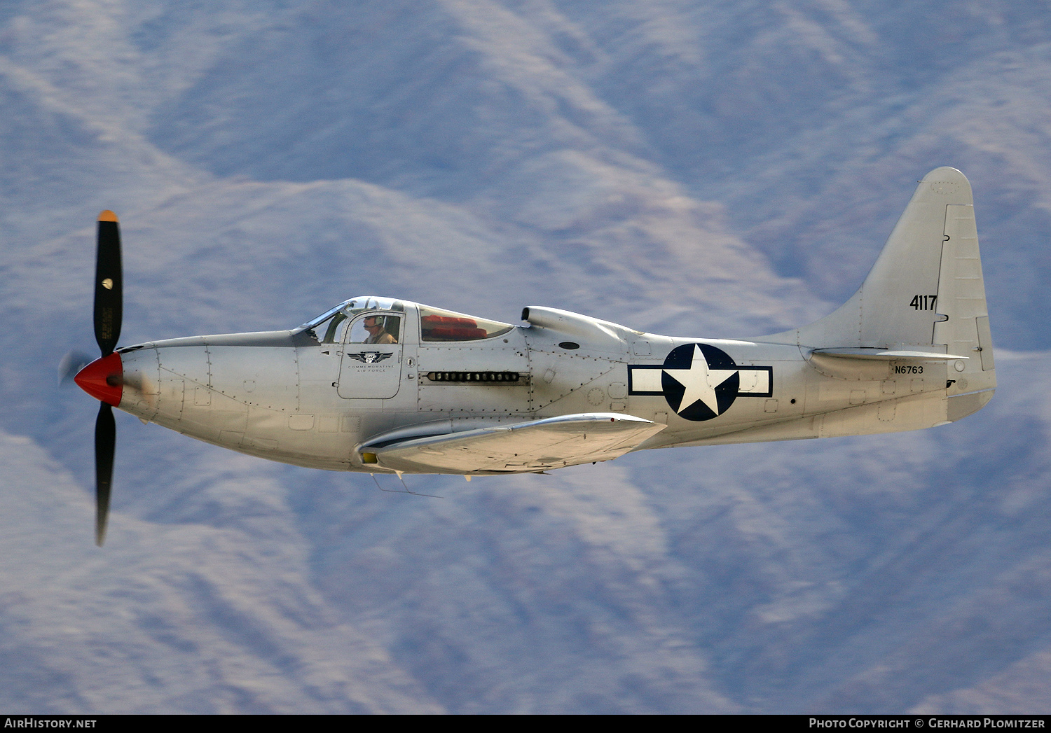
[[[353,321],[363,313],[373,311],[375,316],[367,316],[362,320],[368,321],[370,327],[382,327],[383,332],[390,334],[390,338],[393,339],[388,342],[397,342],[400,336],[401,316],[396,314],[413,311],[418,314],[419,337],[424,342],[477,341],[500,336],[514,328],[510,323],[469,316],[454,311],[365,295],[345,300],[304,323],[298,330],[309,333],[318,343],[342,343],[345,340],[343,332],[346,323]],[[357,330],[356,326],[352,329],[355,332]]]

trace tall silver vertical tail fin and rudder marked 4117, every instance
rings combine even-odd
[[[954,168],[937,168],[925,175],[853,297],[821,320],[763,340],[792,341],[811,350],[959,354],[970,358],[949,369],[950,396],[995,388],[989,312],[967,177]],[[989,397],[991,393],[972,400],[950,400],[949,419],[975,412]],[[973,409],[961,414],[964,402],[974,402]]]

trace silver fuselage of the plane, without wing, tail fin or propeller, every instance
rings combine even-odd
[[[667,425],[641,449],[927,427],[946,421],[953,394],[944,361],[844,370],[794,343],[668,337],[548,309],[532,309],[529,326],[479,329],[461,314],[369,302],[345,309],[338,328],[330,315],[119,350],[116,406],[261,458],[376,473],[368,446],[385,440],[561,415]],[[359,328],[380,321],[396,338]]]

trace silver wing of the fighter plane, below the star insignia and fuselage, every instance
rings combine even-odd
[[[363,447],[377,465],[425,474],[528,473],[623,456],[666,425],[586,413]]]

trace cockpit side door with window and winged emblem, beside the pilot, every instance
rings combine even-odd
[[[390,399],[401,383],[400,313],[367,312],[346,330],[339,382],[344,399]]]

